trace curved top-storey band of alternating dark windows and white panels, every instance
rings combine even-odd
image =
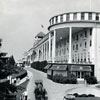
[[[96,12],[71,12],[54,16],[50,19],[50,26],[70,21],[100,21],[100,13]]]

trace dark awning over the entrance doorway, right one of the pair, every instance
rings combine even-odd
[[[91,72],[91,66],[79,66],[79,65],[72,65],[71,71],[88,71]]]

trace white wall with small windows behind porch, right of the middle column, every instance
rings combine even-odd
[[[78,55],[79,55],[80,61],[81,61],[81,57],[84,60],[84,54],[86,54],[86,62],[88,62],[88,52],[90,53],[90,61],[91,61],[92,47],[90,47],[90,40],[92,40],[92,36],[90,36],[90,29],[87,29],[86,31],[87,31],[87,37],[85,37],[85,30],[74,34],[74,38],[76,37],[76,35],[78,35],[78,38],[79,38],[78,41],[73,39],[73,42],[72,42],[72,57],[74,57],[74,61],[75,61],[75,58],[77,58],[77,62],[78,62]],[[86,48],[85,48],[85,42],[87,43]],[[76,44],[78,45],[78,50],[76,50]],[[74,50],[73,50],[73,45],[74,45]]]

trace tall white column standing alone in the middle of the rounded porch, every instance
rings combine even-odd
[[[69,59],[68,63],[72,62],[72,27],[69,27]]]

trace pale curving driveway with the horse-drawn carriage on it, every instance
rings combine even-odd
[[[37,71],[32,68],[26,68],[31,74],[30,82],[27,86],[28,96],[30,100],[34,99],[34,81],[37,79],[43,80],[44,88],[48,92],[48,100],[63,100],[66,93],[90,93],[99,96],[100,90],[95,89],[93,86],[86,86],[84,84],[58,84],[47,79],[46,73]],[[94,91],[94,92],[93,92]]]

